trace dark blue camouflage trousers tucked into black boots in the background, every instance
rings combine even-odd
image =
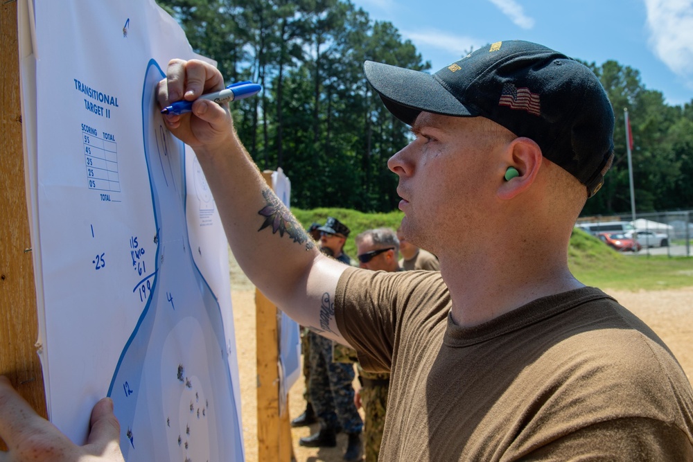
[[[363,421],[353,404],[353,364],[332,361],[332,341],[310,332],[310,402],[328,427],[359,433]]]

